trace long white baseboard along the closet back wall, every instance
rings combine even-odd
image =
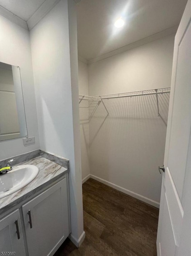
[[[137,199],[139,199],[139,200],[141,200],[141,201],[143,201],[143,202],[145,202],[147,204],[153,205],[153,206],[155,206],[157,208],[159,208],[159,206],[160,206],[160,203],[158,203],[158,202],[156,202],[156,201],[154,201],[152,199],[149,199],[149,198],[147,198],[147,197],[145,197],[143,195],[139,195],[139,194],[137,194],[137,193],[135,193],[133,191],[130,191],[128,189],[122,188],[122,187],[120,187],[118,185],[115,185],[114,183],[111,183],[111,182],[109,182],[107,180],[103,180],[103,179],[101,179],[101,178],[99,178],[97,176],[94,176],[92,174],[90,174],[90,178],[92,178],[94,180],[97,180],[97,181],[99,181],[101,183],[104,183],[105,185],[110,186],[110,187],[112,187],[114,189],[117,189],[117,190],[119,190],[119,191],[121,191],[121,192],[123,192],[123,193],[125,193],[127,195],[130,195],[130,196],[134,197],[134,198],[137,198]]]

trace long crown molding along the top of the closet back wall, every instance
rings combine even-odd
[[[138,40],[138,41],[136,41],[134,43],[130,43],[130,44],[128,44],[126,46],[123,46],[121,48],[118,48],[118,49],[116,49],[114,51],[108,52],[106,54],[103,54],[103,55],[98,56],[96,58],[93,58],[91,60],[88,60],[88,65],[92,64],[92,63],[95,63],[97,61],[101,61],[103,59],[112,57],[112,56],[117,55],[119,53],[126,52],[126,51],[128,51],[130,49],[133,49],[135,47],[141,46],[141,45],[146,44],[146,43],[150,43],[150,42],[158,40],[160,38],[163,38],[163,37],[166,37],[166,36],[169,36],[169,35],[172,35],[172,34],[176,34],[177,29],[178,29],[178,25],[174,26],[174,27],[171,27],[171,28],[167,28],[167,29],[165,29],[165,30],[163,30],[161,32],[153,34],[152,36],[145,37],[145,38],[143,38],[141,40]]]

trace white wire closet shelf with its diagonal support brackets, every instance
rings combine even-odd
[[[97,96],[87,96],[87,95],[79,95],[79,104],[82,100],[91,100],[91,101],[101,101],[107,111],[107,108],[103,102],[103,99],[115,99],[115,98],[122,98],[122,97],[134,97],[134,96],[144,96],[144,95],[156,95],[156,102],[157,102],[157,110],[158,116],[159,113],[159,104],[158,104],[158,94],[170,93],[170,87],[166,88],[159,88],[159,89],[152,89],[152,90],[144,90],[144,91],[132,91],[132,92],[125,92],[125,93],[116,93],[116,94],[105,94],[105,95],[97,95]],[[108,115],[109,112],[107,111]]]

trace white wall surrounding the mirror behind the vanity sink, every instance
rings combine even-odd
[[[22,138],[1,141],[0,159],[30,152],[40,148],[36,100],[33,83],[33,68],[29,31],[0,15],[0,61],[19,66],[23,87],[24,105],[29,136],[35,136],[35,144],[23,145]]]

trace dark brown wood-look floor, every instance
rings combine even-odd
[[[157,208],[92,179],[82,188],[86,238],[79,249],[67,238],[54,256],[157,255]]]

